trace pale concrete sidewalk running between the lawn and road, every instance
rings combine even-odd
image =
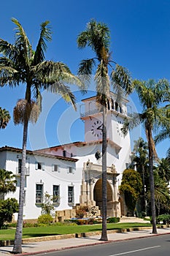
[[[111,232],[111,231],[110,231]],[[136,230],[123,233],[109,233],[108,241],[99,241],[101,235],[86,236],[80,238],[65,238],[61,240],[50,240],[50,241],[38,241],[29,244],[23,244],[23,254],[25,255],[36,255],[40,252],[53,252],[57,250],[69,249],[80,246],[92,246],[95,244],[109,243],[112,241],[123,241],[135,238],[144,238],[149,236],[161,236],[163,234],[170,235],[170,227],[158,228],[158,234],[152,234],[151,229]],[[0,247],[0,256],[12,255],[13,246]]]

